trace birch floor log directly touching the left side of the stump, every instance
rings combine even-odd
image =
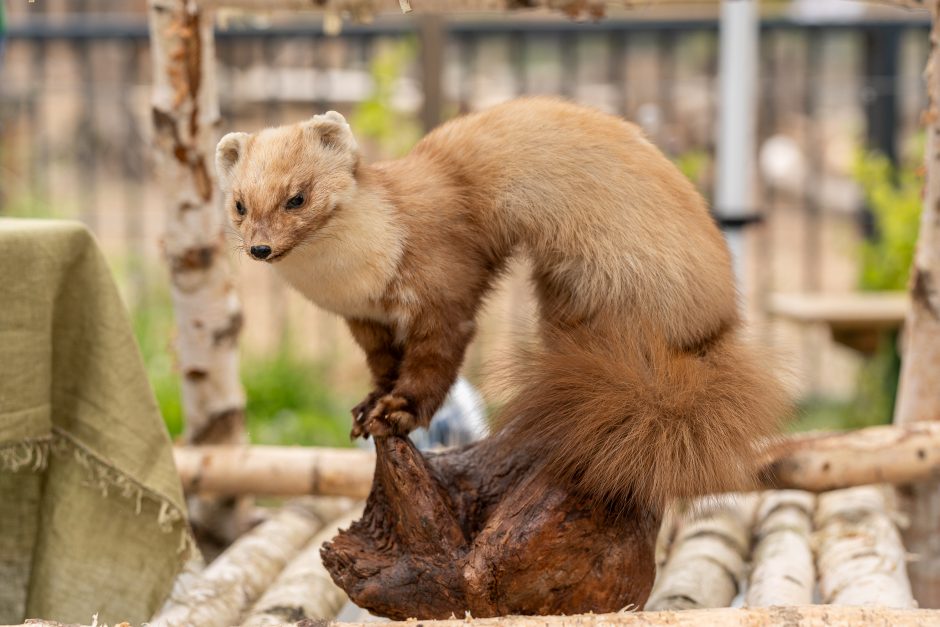
[[[328,620],[346,602],[320,559],[320,547],[362,515],[362,506],[334,520],[313,536],[252,607],[242,627],[280,625],[285,621]]]

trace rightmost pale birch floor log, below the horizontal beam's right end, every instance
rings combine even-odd
[[[819,496],[816,561],[823,603],[916,607],[885,492],[867,486]]]

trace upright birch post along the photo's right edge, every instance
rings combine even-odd
[[[902,344],[900,391],[894,422],[940,420],[940,5],[933,17],[927,82],[924,208],[914,267],[911,308]],[[908,565],[914,597],[921,607],[940,607],[940,477],[899,490],[910,519],[904,543],[916,559]]]

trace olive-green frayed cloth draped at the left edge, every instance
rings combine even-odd
[[[184,512],[94,238],[0,219],[0,624],[148,620],[192,550]]]

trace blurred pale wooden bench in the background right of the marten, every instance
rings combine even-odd
[[[825,325],[836,342],[871,354],[882,333],[904,323],[909,302],[906,292],[776,293],[771,294],[767,311],[801,324]]]

